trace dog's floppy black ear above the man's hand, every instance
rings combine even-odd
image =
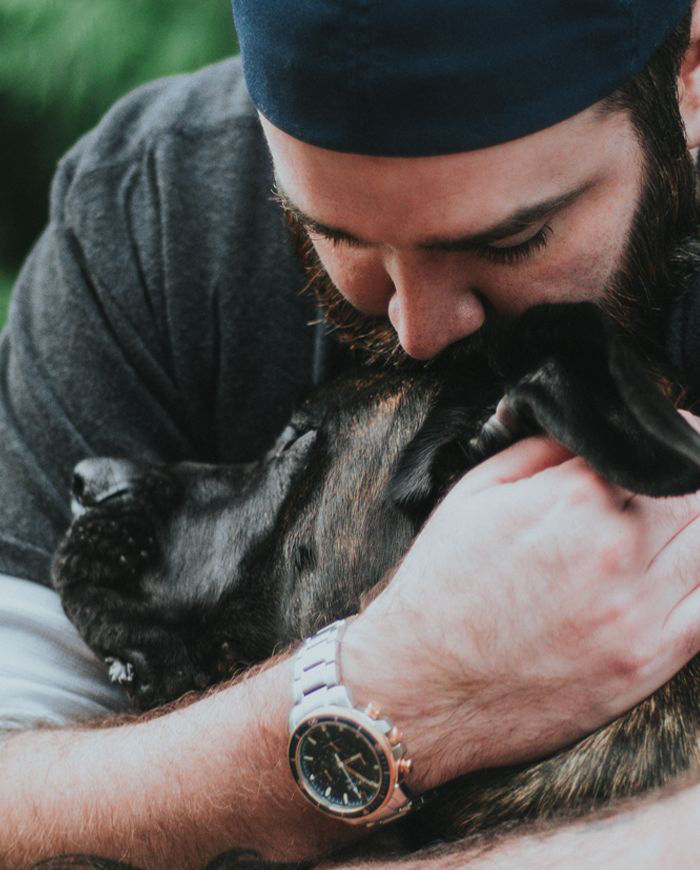
[[[700,488],[700,435],[591,303],[541,305],[508,343],[505,406],[607,480],[666,496]]]

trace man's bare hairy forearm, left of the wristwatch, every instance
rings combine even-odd
[[[277,859],[350,837],[296,793],[286,764],[291,662],[147,721],[38,730],[0,749],[0,864],[82,852],[155,868],[228,849]]]

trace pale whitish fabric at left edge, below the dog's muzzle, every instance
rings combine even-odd
[[[127,708],[53,589],[0,574],[0,738]]]

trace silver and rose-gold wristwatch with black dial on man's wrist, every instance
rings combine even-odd
[[[350,824],[383,824],[417,806],[401,733],[373,705],[360,710],[340,680],[339,620],[304,642],[294,660],[289,763],[302,794]]]

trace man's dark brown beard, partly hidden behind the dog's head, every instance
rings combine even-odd
[[[668,134],[668,131],[666,131]],[[672,131],[683,142],[682,128]],[[650,372],[661,377],[665,364],[665,325],[683,277],[697,268],[697,177],[687,148],[682,157],[669,154],[668,139],[638,132],[644,155],[642,193],[632,221],[622,264],[605,288],[600,307],[612,318],[620,336],[634,348]],[[339,340],[368,363],[391,367],[425,367],[438,360],[453,364],[475,355],[492,357],[506,340],[512,315],[486,309],[482,327],[427,362],[418,362],[401,347],[388,318],[371,317],[354,308],[321,264],[304,228],[287,213],[297,255],[324,320]]]

